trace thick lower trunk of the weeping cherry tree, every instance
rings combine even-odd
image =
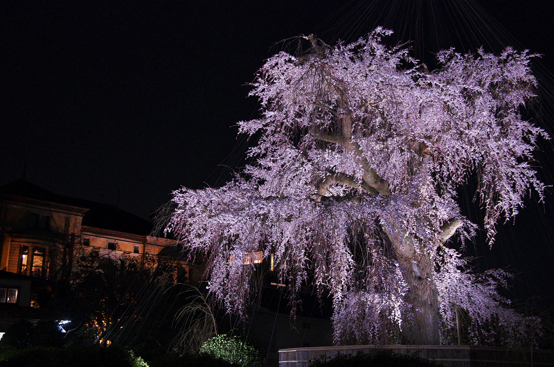
[[[409,286],[406,302],[411,304],[413,315],[413,319],[402,325],[404,343],[438,345],[440,314],[438,290],[433,281],[434,263],[427,254],[397,255],[402,275]]]

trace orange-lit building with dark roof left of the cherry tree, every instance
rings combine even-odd
[[[154,237],[151,230],[150,222],[116,206],[57,195],[26,179],[0,187],[0,271],[35,283],[69,284],[91,251],[137,265],[154,258],[148,264],[172,267],[175,280],[198,282],[201,267],[187,260],[177,242]],[[19,296],[2,297],[1,289],[0,303],[20,304]]]

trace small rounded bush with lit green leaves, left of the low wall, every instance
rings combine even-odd
[[[220,334],[202,344],[200,352],[243,367],[264,366],[264,359],[251,343],[241,337]]]

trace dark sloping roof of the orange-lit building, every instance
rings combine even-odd
[[[77,208],[89,209],[82,218],[83,226],[91,226],[111,231],[148,235],[152,231],[152,224],[139,216],[123,211],[115,205],[91,202],[58,195],[40,186],[30,183],[26,179],[18,179],[0,186],[0,195],[35,199],[42,202],[64,204]]]

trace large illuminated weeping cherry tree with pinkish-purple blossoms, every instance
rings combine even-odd
[[[517,323],[497,283],[476,282],[447,243],[474,235],[456,202],[470,179],[490,244],[526,193],[542,199],[530,161],[546,134],[521,116],[535,97],[533,55],[451,49],[428,71],[384,46],[388,34],[332,47],[310,36],[304,55],[271,57],[250,93],[261,117],[239,123],[259,139],[254,163],[222,188],[175,191],[168,231],[208,256],[209,287],[229,311],[248,305],[261,267],[244,258],[262,251],[293,312],[301,285],[332,296],[337,343],[438,344],[453,307]]]

